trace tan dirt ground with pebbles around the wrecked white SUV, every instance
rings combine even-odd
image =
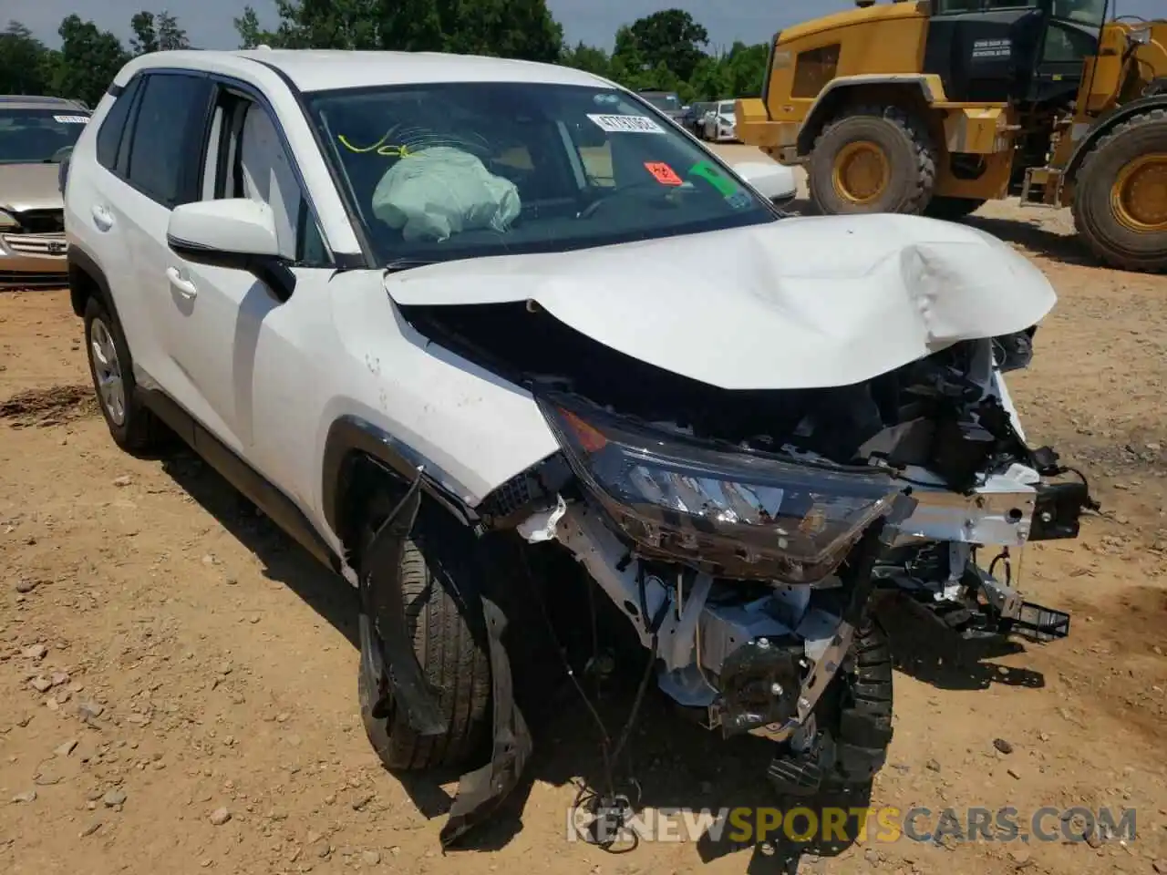
[[[1062,214],[1005,203],[971,222],[1057,288],[1011,385],[1030,441],[1079,466],[1103,513],[1015,560],[1030,598],[1074,612],[1069,639],[986,656],[896,635],[872,804],[1126,807],[1135,840],[610,856],[565,840],[572,778],[598,757],[573,705],[543,732],[520,812],[443,858],[452,785],[406,786],[365,742],[345,584],[197,461],[119,453],[68,294],[18,292],[0,293],[0,872],[1167,873],[1167,278],[1092,266]],[[663,706],[634,746],[645,805],[767,798],[755,748]]]

